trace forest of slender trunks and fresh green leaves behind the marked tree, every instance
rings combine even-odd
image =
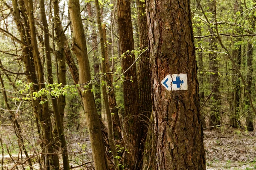
[[[256,169],[256,0],[214,6],[190,2],[207,169]],[[144,0],[0,0],[0,40],[2,170],[155,169]]]

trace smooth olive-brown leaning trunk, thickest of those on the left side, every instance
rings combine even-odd
[[[80,15],[79,0],[69,1],[69,11],[74,34],[73,51],[76,54],[79,62],[79,84],[81,85],[79,89],[81,91],[82,100],[84,103],[84,111],[90,134],[94,165],[96,170],[107,170],[108,164],[103,145],[101,125],[99,123],[93,92],[91,91],[92,85],[89,84],[89,88],[84,88],[84,83],[90,81],[91,77],[90,64],[87,56],[86,38]]]

